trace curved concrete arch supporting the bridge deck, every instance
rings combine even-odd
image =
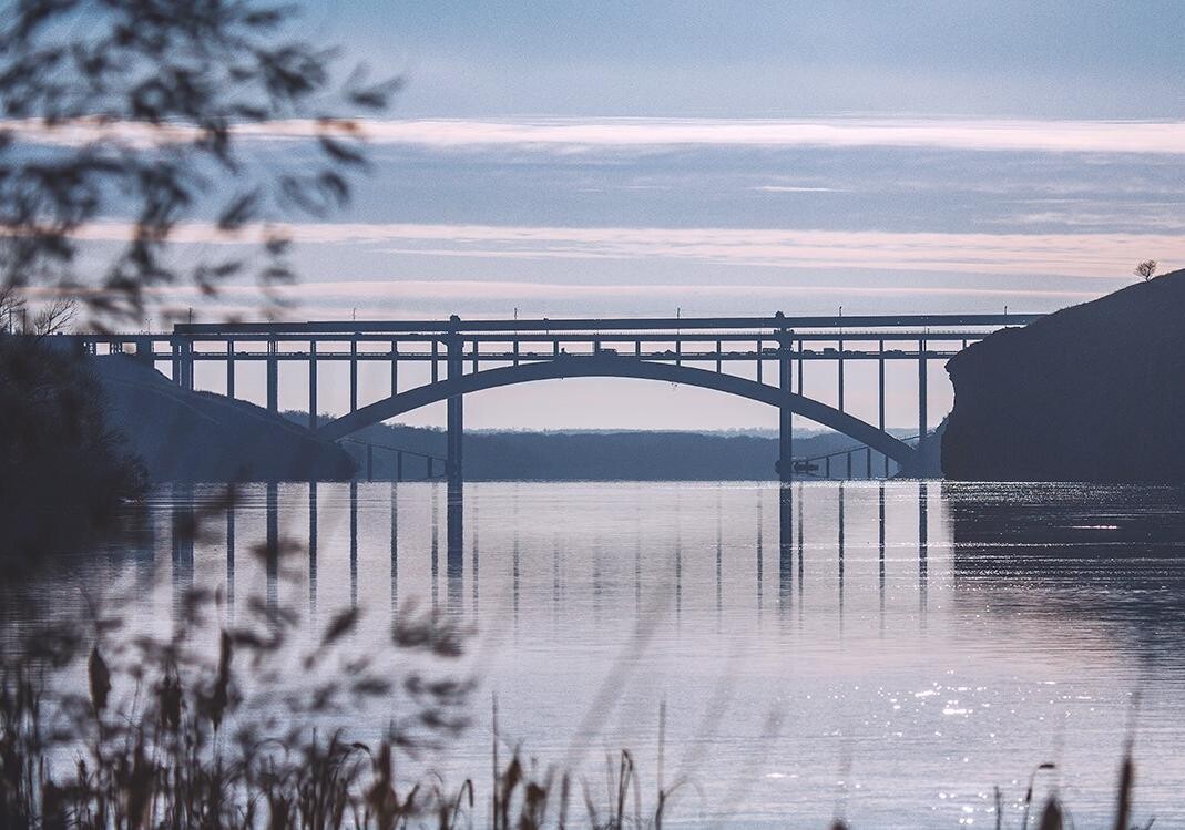
[[[556,360],[505,366],[485,369],[472,374],[462,374],[456,379],[441,380],[401,392],[399,394],[374,401],[350,414],[337,418],[318,430],[318,435],[329,440],[344,438],[351,432],[404,412],[428,406],[451,395],[481,392],[499,386],[527,384],[536,380],[558,380],[562,378],[635,378],[659,380],[671,384],[686,384],[705,390],[715,390],[725,394],[735,394],[749,400],[756,400],[769,406],[781,406],[783,393],[768,384],[755,380],[720,374],[692,366],[677,366],[629,358],[566,355]],[[911,469],[916,450],[909,444],[882,432],[879,429],[846,412],[827,406],[812,398],[787,393],[790,410],[795,414],[843,432],[861,444],[882,452],[905,469]]]

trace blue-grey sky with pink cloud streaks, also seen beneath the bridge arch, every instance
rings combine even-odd
[[[1179,0],[309,0],[295,30],[405,81],[353,205],[293,229],[297,317],[1046,311],[1185,266]],[[776,423],[579,384],[467,418]]]

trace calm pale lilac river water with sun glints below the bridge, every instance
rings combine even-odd
[[[993,826],[997,785],[1014,826],[1043,761],[1103,825],[1139,693],[1138,817],[1185,824],[1178,489],[481,483],[450,528],[443,484],[260,485],[174,542],[218,493],[156,491],[148,533],[38,586],[39,613],[130,585],[127,612],[166,626],[180,586],[222,586],[233,613],[270,596],[318,626],[357,603],[365,649],[418,600],[474,624],[481,680],[474,726],[427,764],[487,780],[497,694],[527,754],[603,786],[628,747],[651,783],[665,701],[674,816],[697,826]],[[312,552],[269,574],[249,553],[269,533]]]

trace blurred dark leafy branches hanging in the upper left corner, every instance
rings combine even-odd
[[[0,11],[0,284],[77,297],[111,323],[154,307],[178,319],[156,289],[210,296],[254,270],[275,310],[271,289],[294,276],[281,223],[347,204],[366,166],[357,117],[386,109],[398,81],[342,71],[338,50],[289,33],[289,5],[8,0]],[[268,130],[303,143],[250,152]],[[182,230],[258,252],[171,256]]]

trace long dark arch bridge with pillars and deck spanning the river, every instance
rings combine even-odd
[[[194,365],[222,363],[226,395],[235,397],[236,366],[267,367],[267,407],[278,411],[280,365],[303,363],[308,382],[308,427],[339,440],[379,422],[446,401],[446,477],[463,478],[465,395],[515,384],[561,378],[635,378],[684,384],[755,400],[779,411],[782,481],[794,472],[793,425],[800,416],[841,432],[882,453],[907,474],[918,469],[929,438],[927,373],[968,343],[1033,314],[946,314],[896,316],[664,317],[604,320],[476,320],[380,322],[179,323],[167,334],[78,335],[92,354],[130,352],[153,366],[166,363],[172,379],[193,388]],[[835,404],[807,390],[803,368],[826,362],[835,369]],[[869,422],[845,408],[845,366],[877,365],[878,417]],[[915,445],[885,426],[885,365],[917,367]],[[318,417],[318,369],[346,362],[350,401],[328,423]],[[359,406],[358,368],[385,363],[389,393]],[[401,367],[427,365],[428,381],[401,387]],[[830,397],[830,395],[828,395]],[[870,456],[871,457],[871,456]],[[870,462],[871,463],[871,462]]]

